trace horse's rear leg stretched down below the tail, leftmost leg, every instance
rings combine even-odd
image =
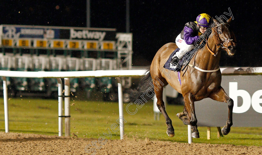
[[[158,109],[160,110],[160,112],[164,115],[164,117],[166,119],[167,135],[169,137],[174,137],[175,133],[174,133],[174,128],[172,126],[172,121],[167,115],[167,112],[165,110],[164,101],[163,101],[163,85],[158,81],[158,79],[156,79],[156,78],[154,79],[154,87],[155,87],[154,91],[155,91],[155,94],[156,94],[156,98],[158,99],[157,106],[158,106]],[[160,80],[161,80],[161,78],[160,78]],[[163,81],[163,80],[161,80],[161,81]],[[159,86],[161,86],[161,87],[159,88]]]

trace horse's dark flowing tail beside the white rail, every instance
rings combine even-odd
[[[141,99],[141,96],[143,96],[143,98],[146,99],[147,101],[152,98],[152,96],[150,97],[148,95],[143,95],[144,93],[146,93],[148,88],[152,88],[152,86],[150,85],[150,83],[152,83],[152,78],[149,70],[150,69],[147,69],[144,76],[141,78],[138,88],[130,89],[128,91],[129,94],[128,98],[130,102],[134,103],[137,99]]]

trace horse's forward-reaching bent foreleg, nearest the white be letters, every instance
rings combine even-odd
[[[216,92],[211,93],[208,97],[219,102],[227,103],[228,119],[226,121],[226,125],[221,130],[223,135],[227,135],[230,132],[230,127],[233,125],[232,113],[234,101],[226,94],[225,90],[221,86]]]

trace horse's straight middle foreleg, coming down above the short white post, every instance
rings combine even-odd
[[[184,101],[185,101],[185,106],[184,106],[184,111],[182,113],[185,114],[185,117],[179,117],[183,116],[181,113],[179,113],[178,118],[180,118],[184,124],[186,125],[191,125],[191,130],[192,130],[192,137],[194,138],[199,138],[199,132],[197,130],[197,119],[196,119],[196,114],[195,114],[195,98],[191,93],[187,93],[184,95]]]

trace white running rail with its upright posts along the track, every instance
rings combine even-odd
[[[222,75],[262,75],[262,67],[243,67],[243,68],[220,68]],[[62,117],[65,117],[65,136],[70,136],[70,82],[69,78],[85,77],[140,77],[145,70],[96,70],[96,71],[72,71],[72,72],[24,72],[24,71],[0,71],[3,77],[3,96],[5,112],[5,132],[9,132],[8,122],[8,103],[7,103],[7,83],[6,77],[18,78],[56,78],[58,80],[58,120],[59,136],[62,136]],[[65,78],[65,115],[62,116],[62,81]],[[118,83],[119,97],[119,117],[123,117],[123,92],[122,85]],[[124,118],[124,117],[123,117]],[[124,135],[124,122],[120,119],[120,139]],[[188,143],[192,143],[191,127],[188,126]]]

